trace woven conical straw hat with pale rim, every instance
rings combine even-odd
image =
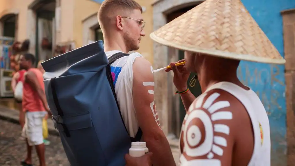
[[[206,0],[150,34],[170,47],[212,56],[284,64],[240,0]]]

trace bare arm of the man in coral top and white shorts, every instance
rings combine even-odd
[[[38,96],[42,100],[42,103],[44,105],[45,110],[48,112],[49,111],[49,108],[48,108],[48,104],[47,104],[45,92],[41,88],[41,86],[40,86],[40,84],[38,82],[38,79],[37,79],[35,73],[33,73],[32,71],[28,71],[25,74],[25,81],[28,84],[30,84],[30,86],[37,92]]]

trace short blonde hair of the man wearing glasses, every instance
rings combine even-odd
[[[101,30],[104,31],[105,25],[111,21],[111,13],[130,12],[139,9],[142,13],[142,7],[134,0],[104,0],[99,8],[98,21]]]

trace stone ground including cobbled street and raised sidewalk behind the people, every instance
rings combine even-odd
[[[10,109],[0,105],[0,165],[14,166],[19,165],[19,161],[24,159],[26,154],[25,141],[21,138],[21,129],[19,126],[19,111]],[[46,162],[47,166],[63,166],[67,165],[63,146],[61,144],[58,131],[54,128],[52,120],[48,122],[48,140],[51,144],[46,146]],[[167,138],[173,157],[176,163],[179,159],[178,139]],[[4,145],[4,146],[3,146]],[[33,163],[38,164],[36,152],[33,152]]]

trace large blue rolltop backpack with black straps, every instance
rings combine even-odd
[[[55,128],[71,166],[124,166],[131,142],[119,110],[102,41],[42,63],[45,93]]]

